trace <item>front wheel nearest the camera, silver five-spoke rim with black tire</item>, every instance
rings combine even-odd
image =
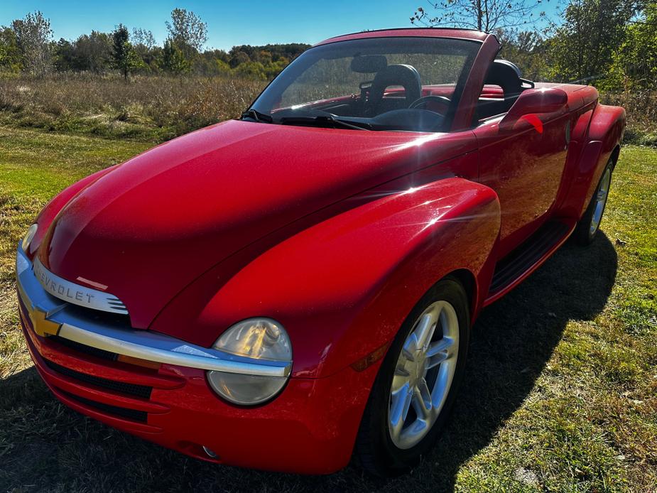
[[[413,308],[381,364],[356,444],[366,470],[401,474],[433,447],[465,370],[468,336],[467,294],[445,278]]]

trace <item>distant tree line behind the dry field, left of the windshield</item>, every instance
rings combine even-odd
[[[173,9],[165,22],[167,38],[158,45],[151,31],[119,24],[111,33],[92,31],[76,40],[53,40],[50,20],[28,13],[0,27],[0,73],[48,72],[241,75],[271,79],[310,45],[234,46],[207,50],[207,24],[192,11]]]

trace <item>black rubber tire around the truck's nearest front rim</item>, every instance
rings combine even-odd
[[[458,319],[459,346],[452,384],[447,391],[447,398],[438,414],[438,418],[436,418],[428,434],[412,448],[398,448],[391,439],[388,424],[393,374],[403,343],[415,327],[416,321],[423,314],[425,308],[440,300],[447,301],[452,305]],[[449,416],[457,389],[465,372],[469,332],[470,320],[467,293],[462,284],[455,278],[444,278],[420,299],[408,315],[395,340],[393,340],[384,362],[381,364],[379,374],[376,376],[361,421],[355,447],[357,459],[365,470],[379,477],[398,476],[417,465],[420,458],[433,448]]]

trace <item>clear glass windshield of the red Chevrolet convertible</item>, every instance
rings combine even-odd
[[[272,124],[447,131],[480,43],[366,38],[310,48],[244,119]]]

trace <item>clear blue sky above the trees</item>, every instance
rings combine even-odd
[[[50,18],[55,39],[82,33],[112,31],[118,23],[153,31],[158,43],[166,37],[164,21],[175,7],[197,13],[208,28],[207,46],[267,43],[317,43],[338,34],[411,26],[409,18],[426,0],[269,0],[269,1],[32,1],[0,0],[0,25],[9,25],[30,11]]]

